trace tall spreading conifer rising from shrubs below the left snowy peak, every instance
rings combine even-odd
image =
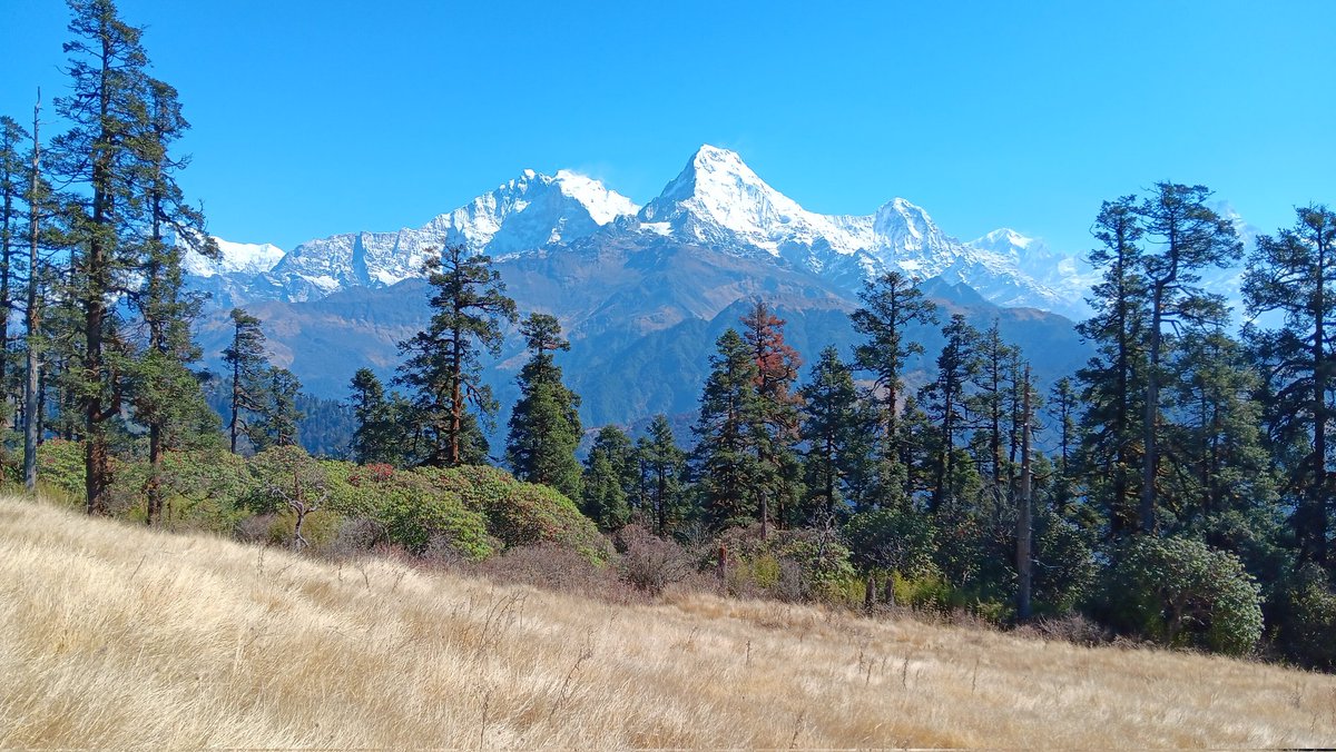
[[[425,267],[432,286],[428,329],[399,342],[407,361],[397,383],[413,387],[414,411],[426,443],[422,462],[448,466],[486,458],[478,419],[489,422],[497,405],[482,383],[482,351],[501,351],[501,323],[514,323],[514,301],[485,255],[466,258],[464,246],[448,246]],[[476,413],[469,410],[473,406]]]

